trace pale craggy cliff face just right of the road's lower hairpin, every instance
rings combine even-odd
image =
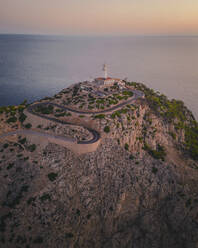
[[[103,132],[108,126],[110,131],[104,137],[116,140],[134,156],[144,156],[148,147],[156,151],[159,145],[163,147],[164,154],[170,149],[179,152],[177,148],[185,142],[184,130],[176,130],[173,123],[156,116],[145,101],[137,101],[136,105],[121,109],[118,113],[115,117],[114,112],[98,120],[97,128]]]

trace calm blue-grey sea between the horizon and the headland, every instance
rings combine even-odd
[[[198,37],[0,35],[0,105],[51,96],[109,75],[181,99],[198,119]]]

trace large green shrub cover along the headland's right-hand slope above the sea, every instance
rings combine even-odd
[[[144,84],[135,82],[127,82],[127,84],[143,91],[153,112],[165,122],[172,123],[176,132],[181,129],[184,131],[185,142],[181,147],[192,159],[198,160],[198,123],[184,103],[180,100],[169,100],[165,95],[149,89]],[[170,133],[170,135],[175,139],[177,133]],[[153,152],[150,151],[150,153]]]

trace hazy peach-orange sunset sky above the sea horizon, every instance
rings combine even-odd
[[[198,0],[0,0],[0,33],[198,35]]]

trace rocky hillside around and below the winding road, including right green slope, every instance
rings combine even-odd
[[[198,247],[197,122],[181,101],[126,84],[145,98],[89,116],[41,110],[89,123],[101,135],[94,152],[26,135],[0,139],[0,247]],[[71,125],[38,127],[26,108],[2,108],[0,133],[22,127],[90,138]]]

